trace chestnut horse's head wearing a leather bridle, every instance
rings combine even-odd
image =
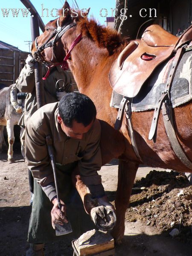
[[[76,21],[79,20],[79,15],[86,19],[88,12],[89,9],[84,13],[77,9],[74,12],[74,9],[70,9],[69,4],[65,1],[64,6],[59,10],[59,18],[49,21],[45,26],[44,33],[33,42],[33,56],[40,61],[47,62],[49,65],[61,64],[69,52],[72,42],[76,38],[76,44],[81,40],[81,32],[79,35],[74,32]]]

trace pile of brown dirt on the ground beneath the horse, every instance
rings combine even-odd
[[[178,240],[192,243],[192,186],[185,176],[153,170],[132,191],[127,221],[140,220],[159,232],[176,228]]]

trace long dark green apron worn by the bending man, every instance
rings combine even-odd
[[[86,214],[81,198],[73,187],[71,180],[71,172],[77,162],[67,165],[56,164],[58,187],[61,199],[67,205],[67,216],[70,219],[73,233],[55,236],[55,230],[51,224],[52,202],[49,201],[47,195],[41,189],[41,186],[34,179],[34,199],[32,204],[32,212],[29,220],[29,230],[27,241],[32,244],[41,244],[53,242],[58,239],[71,237],[78,238],[87,230],[95,228],[90,216]]]

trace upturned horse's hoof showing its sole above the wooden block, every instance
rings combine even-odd
[[[91,209],[91,218],[99,230],[112,230],[116,223],[116,215],[113,210],[100,205]]]

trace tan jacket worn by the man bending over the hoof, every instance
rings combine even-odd
[[[25,154],[32,175],[41,180],[42,186],[54,181],[46,145],[46,136],[51,135],[56,163],[66,165],[78,161],[84,183],[100,184],[101,176],[97,173],[102,166],[99,121],[96,119],[82,140],[76,140],[62,131],[57,116],[58,102],[43,106],[26,123]]]

